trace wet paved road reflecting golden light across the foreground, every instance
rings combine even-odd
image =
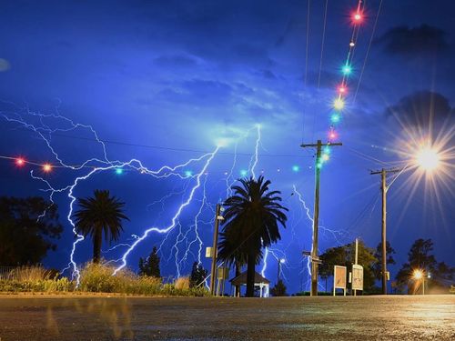
[[[455,296],[0,296],[8,340],[455,340]]]

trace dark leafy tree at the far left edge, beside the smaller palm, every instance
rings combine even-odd
[[[60,238],[57,206],[42,197],[0,197],[0,265],[40,263]]]

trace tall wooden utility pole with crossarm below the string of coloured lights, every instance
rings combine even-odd
[[[304,144],[300,145],[302,148],[316,147],[316,184],[315,184],[315,196],[314,196],[314,215],[313,215],[313,246],[311,247],[311,291],[310,296],[318,296],[318,228],[319,228],[319,180],[320,180],[320,167],[321,152],[323,146],[342,145],[341,143],[330,143],[323,144],[321,140],[318,140],[316,144]]]

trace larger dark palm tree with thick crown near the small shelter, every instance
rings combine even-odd
[[[247,264],[247,296],[254,296],[255,266],[262,258],[262,247],[276,243],[278,223],[286,227],[288,208],[279,204],[281,193],[269,191],[270,181],[250,177],[232,186],[234,195],[227,198],[225,223],[220,238],[219,256],[228,264]]]

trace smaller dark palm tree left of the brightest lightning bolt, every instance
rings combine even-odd
[[[78,199],[81,207],[75,213],[76,230],[78,233],[92,238],[93,262],[99,263],[103,233],[109,244],[117,241],[123,231],[122,219],[129,220],[123,213],[125,203],[115,196],[109,196],[109,191],[96,189],[93,197]]]

